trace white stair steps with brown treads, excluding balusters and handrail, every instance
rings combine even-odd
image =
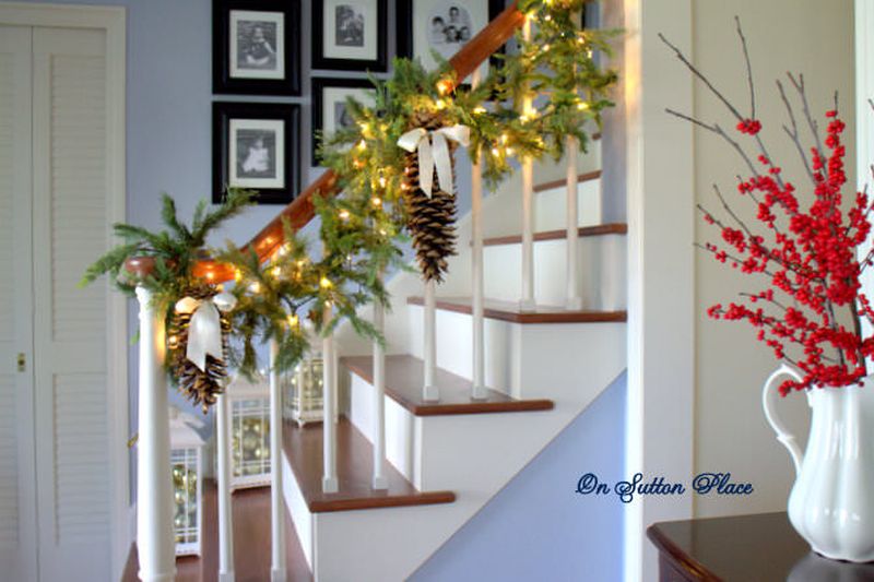
[[[598,146],[579,159],[598,158]],[[544,174],[548,175],[545,168]],[[389,283],[386,319],[385,441],[389,488],[374,490],[375,388],[371,346],[350,330],[335,337],[339,357],[340,491],[321,492],[322,429],[286,423],[284,497],[317,581],[409,578],[456,531],[550,443],[625,368],[625,224],[598,224],[600,173],[580,175],[579,269],[584,309],[567,310],[566,183],[535,188],[535,290],[546,298],[519,309],[519,180],[485,199],[486,399],[472,400],[473,349],[470,214],[459,221],[459,256],[436,301],[439,401],[423,400],[422,283]],[[509,224],[509,227],[508,227]],[[378,558],[385,557],[385,558]]]

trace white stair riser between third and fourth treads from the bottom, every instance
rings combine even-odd
[[[577,272],[584,309],[615,311],[627,305],[626,237],[602,235],[577,239]],[[486,247],[485,296],[518,301],[521,297],[522,246]],[[564,306],[567,299],[567,240],[534,242],[534,298],[539,305]]]

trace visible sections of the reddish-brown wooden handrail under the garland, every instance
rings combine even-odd
[[[516,2],[510,4],[500,14],[491,21],[485,28],[474,36],[461,50],[459,50],[449,63],[456,71],[456,79],[461,83],[473,71],[476,70],[486,59],[496,52],[504,44],[509,40],[513,33],[522,26],[525,16],[517,8]],[[275,218],[258,233],[246,249],[255,249],[258,257],[263,261],[270,257],[280,246],[285,242],[283,233],[283,218],[287,219],[292,227],[299,229],[304,227],[315,216],[312,205],[314,195],[329,197],[335,194],[338,190],[338,177],[332,170],[327,170],[309,187],[300,192],[291,204],[285,206]],[[125,268],[132,274],[139,276],[149,275],[154,269],[154,260],[151,258],[129,259]],[[223,283],[234,278],[234,271],[225,264],[213,260],[203,260],[194,265],[194,275],[203,277],[211,283]]]

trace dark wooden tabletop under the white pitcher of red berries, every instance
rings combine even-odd
[[[813,553],[786,512],[656,523],[647,537],[661,555],[663,581],[874,581],[874,563]]]

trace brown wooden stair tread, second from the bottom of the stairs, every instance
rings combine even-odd
[[[341,361],[373,383],[374,358],[349,356]],[[516,400],[492,389],[487,390],[486,399],[471,400],[472,382],[442,368],[437,368],[435,375],[440,400],[425,401],[422,397],[424,370],[422,359],[414,356],[386,356],[386,394],[416,416],[548,411],[554,406],[551,400]]]

